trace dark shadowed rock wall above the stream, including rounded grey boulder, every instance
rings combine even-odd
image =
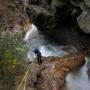
[[[87,1],[26,0],[25,7],[30,21],[48,40],[86,49],[90,46],[90,36],[85,34],[90,32],[89,13],[84,13],[89,9]]]

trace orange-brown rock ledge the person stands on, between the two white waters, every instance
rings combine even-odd
[[[69,72],[77,72],[84,65],[85,58],[76,53],[63,58],[43,57],[42,65],[31,64],[28,75],[27,90],[67,90],[65,77]]]

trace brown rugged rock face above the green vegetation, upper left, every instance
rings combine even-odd
[[[22,0],[0,0],[0,31],[22,31],[27,18]]]

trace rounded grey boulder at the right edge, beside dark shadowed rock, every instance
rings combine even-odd
[[[90,33],[90,11],[84,11],[77,19],[83,32]]]

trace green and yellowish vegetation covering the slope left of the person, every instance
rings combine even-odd
[[[0,33],[0,90],[16,90],[26,71],[26,52],[23,32]]]

